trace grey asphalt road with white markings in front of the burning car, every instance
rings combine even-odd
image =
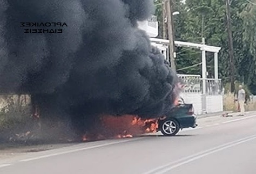
[[[256,115],[200,119],[199,128],[175,137],[149,135],[26,154],[1,162],[0,173],[255,174]]]

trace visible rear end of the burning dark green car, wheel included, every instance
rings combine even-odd
[[[193,104],[185,104],[180,98],[178,105],[173,107],[165,118],[159,119],[158,123],[157,131],[165,136],[174,136],[183,128],[196,128],[197,117],[194,115]]]

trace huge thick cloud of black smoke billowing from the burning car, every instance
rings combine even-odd
[[[64,111],[76,119],[163,115],[171,107],[177,77],[136,27],[137,20],[150,16],[152,4],[1,0],[1,90],[34,94],[45,110]],[[21,22],[62,22],[68,27],[58,34],[23,33]]]

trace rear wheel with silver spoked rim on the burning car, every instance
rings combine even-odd
[[[174,136],[180,130],[179,122],[176,119],[167,118],[161,124],[161,133],[164,136]]]

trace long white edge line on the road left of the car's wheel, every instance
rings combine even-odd
[[[124,142],[128,142],[128,141],[135,141],[135,140],[144,139],[144,138],[145,137],[141,137],[141,138],[137,138],[137,139],[130,139],[130,140],[123,140],[123,141],[112,142],[112,143],[99,144],[99,145],[96,145],[96,146],[90,146],[90,147],[85,147],[85,148],[80,148],[80,149],[63,151],[63,152],[55,153],[55,154],[49,154],[49,155],[43,155],[43,156],[38,156],[38,157],[33,157],[33,158],[28,158],[28,159],[22,159],[19,162],[28,162],[28,161],[33,161],[33,160],[36,160],[36,159],[48,158],[48,157],[57,156],[57,155],[63,155],[63,154],[70,154],[70,153],[75,153],[77,151],[83,151],[83,150],[88,150],[88,149],[95,149],[95,148],[99,148],[99,147],[110,146],[112,144],[119,144],[119,143],[124,143]]]

